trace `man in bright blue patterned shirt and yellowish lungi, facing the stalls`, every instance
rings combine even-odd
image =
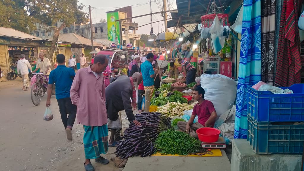
[[[150,100],[153,95],[154,91],[154,77],[156,73],[158,72],[158,69],[155,71],[153,70],[151,62],[154,59],[154,55],[152,53],[147,54],[147,61],[145,61],[143,64],[140,66],[141,73],[143,75],[143,86],[145,87],[145,91],[148,89],[151,91],[150,94]]]

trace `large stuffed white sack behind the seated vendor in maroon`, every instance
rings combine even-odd
[[[201,76],[201,86],[205,90],[204,99],[213,103],[217,118],[234,104],[237,82],[233,79],[221,74],[204,74]]]

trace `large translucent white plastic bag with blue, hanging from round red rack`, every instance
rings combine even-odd
[[[209,32],[211,34],[213,51],[217,54],[225,45],[225,37],[223,37],[223,29],[218,16],[214,18]]]

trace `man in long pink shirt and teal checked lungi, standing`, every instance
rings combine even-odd
[[[71,101],[77,105],[77,122],[83,124],[85,129],[83,143],[86,171],[94,171],[90,159],[102,164],[109,163],[109,160],[100,156],[108,151],[108,117],[102,75],[108,62],[105,55],[97,55],[92,66],[76,72],[71,86]]]

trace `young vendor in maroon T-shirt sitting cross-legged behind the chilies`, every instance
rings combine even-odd
[[[177,123],[180,131],[185,131],[196,139],[198,139],[198,136],[195,131],[202,127],[213,127],[217,117],[212,102],[205,100],[204,95],[205,90],[202,87],[196,87],[193,90],[194,99],[199,103],[193,107],[193,112],[188,122],[179,121]],[[198,116],[198,122],[194,124],[193,121],[196,115]]]

